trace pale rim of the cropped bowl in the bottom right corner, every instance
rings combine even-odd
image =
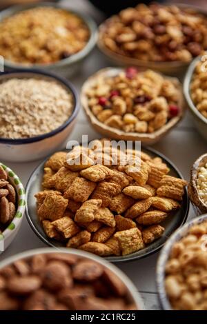
[[[168,261],[170,251],[172,249],[172,245],[176,242],[180,241],[181,238],[186,236],[190,227],[193,225],[202,223],[207,220],[207,214],[203,214],[195,219],[191,219],[185,225],[179,227],[168,239],[164,247],[161,249],[157,260],[156,267],[156,283],[157,283],[157,292],[159,296],[159,301],[161,303],[161,307],[163,310],[172,310],[170,305],[170,301],[168,300],[168,296],[166,294],[164,279],[165,279],[165,267],[166,262]]]

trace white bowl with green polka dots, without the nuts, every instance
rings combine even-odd
[[[14,216],[14,219],[10,224],[8,224],[8,226],[5,230],[3,230],[3,232],[0,232],[0,253],[2,253],[12,243],[14,237],[19,231],[26,208],[26,194],[23,188],[23,184],[19,180],[17,174],[15,174],[10,168],[8,168],[3,163],[0,162],[0,165],[8,174],[8,181],[13,185],[17,194],[17,212]]]

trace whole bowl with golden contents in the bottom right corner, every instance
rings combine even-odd
[[[168,239],[157,263],[157,290],[164,310],[207,310],[207,214]]]

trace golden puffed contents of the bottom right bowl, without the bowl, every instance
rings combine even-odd
[[[190,227],[172,246],[166,263],[166,293],[174,310],[207,310],[207,221]]]

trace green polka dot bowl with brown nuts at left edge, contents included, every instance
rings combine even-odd
[[[0,163],[0,253],[17,235],[25,207],[26,196],[19,177]]]

